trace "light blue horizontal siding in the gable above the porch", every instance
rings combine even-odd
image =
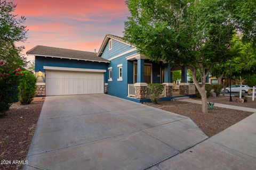
[[[133,49],[132,46],[129,46],[129,45],[126,45],[119,41],[116,41],[115,39],[112,39],[112,49],[110,49],[110,50],[108,49],[108,44],[109,44],[109,41],[108,41],[107,45],[105,46],[105,48],[103,49],[103,52],[101,55],[102,58],[109,59],[118,54],[122,54],[122,53],[126,52],[127,50]]]

